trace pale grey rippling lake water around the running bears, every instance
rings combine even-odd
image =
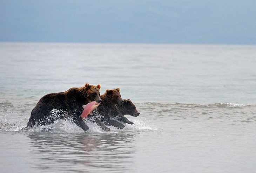
[[[1,172],[256,170],[256,46],[0,43],[0,60]],[[111,132],[19,131],[42,96],[85,83],[141,114]]]

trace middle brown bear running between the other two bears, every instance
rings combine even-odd
[[[107,89],[106,92],[100,96],[100,98],[102,99],[102,103],[98,106],[97,112],[94,112],[92,117],[100,117],[102,122],[107,126],[115,126],[119,129],[124,128],[124,125],[121,122],[112,119],[115,116],[121,116],[121,113],[117,107],[117,105],[123,104],[120,89]],[[106,126],[103,123],[98,125],[101,128],[105,128]]]

